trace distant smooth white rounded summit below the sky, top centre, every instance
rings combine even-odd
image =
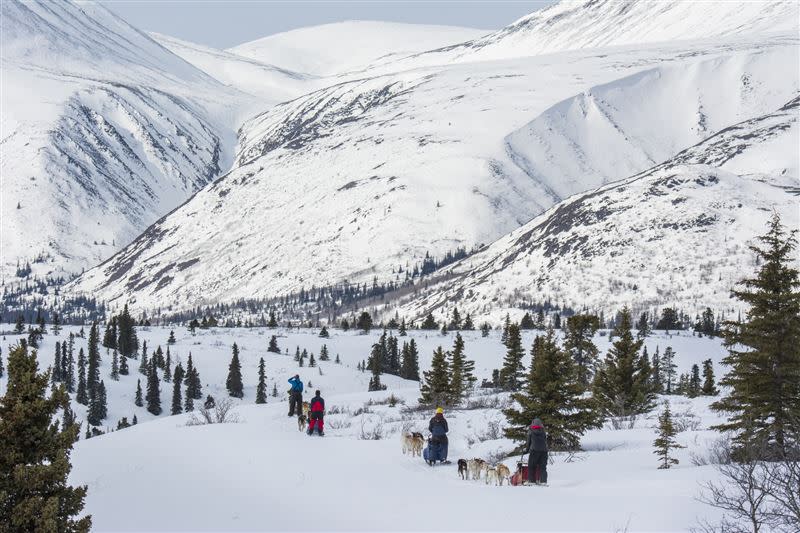
[[[351,20],[270,35],[228,51],[315,76],[334,76],[488,33],[457,26]]]

